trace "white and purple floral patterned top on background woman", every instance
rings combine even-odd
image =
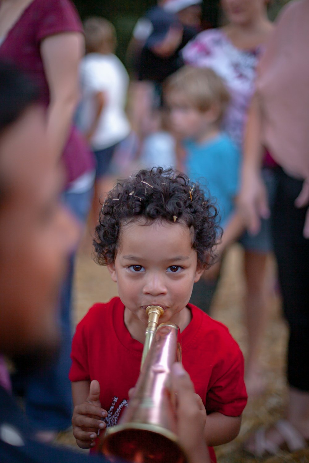
[[[213,69],[225,81],[231,102],[223,121],[223,129],[241,148],[247,110],[254,93],[256,66],[264,51],[236,48],[221,29],[208,29],[198,34],[182,50],[186,64]]]

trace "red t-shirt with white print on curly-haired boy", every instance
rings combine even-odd
[[[181,333],[183,367],[188,371],[207,413],[239,416],[247,400],[244,361],[226,326],[188,304],[192,313]],[[76,327],[72,343],[71,381],[99,381],[107,426],[114,426],[128,401],[128,390],[139,377],[143,344],[124,323],[119,297],[95,304]],[[213,449],[211,456],[215,461]]]

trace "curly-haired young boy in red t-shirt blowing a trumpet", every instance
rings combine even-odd
[[[219,235],[214,203],[172,169],[141,170],[107,194],[95,251],[120,297],[95,304],[76,328],[69,377],[79,446],[94,447],[97,430],[115,425],[126,406],[139,376],[151,304],[164,309],[160,322],[180,328],[183,366],[208,413],[208,445],[237,436],[246,405],[242,354],[224,325],[188,304]],[[215,461],[213,450],[211,457]]]

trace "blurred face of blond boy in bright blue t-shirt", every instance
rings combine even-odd
[[[171,130],[183,138],[202,138],[209,127],[208,112],[199,111],[182,92],[172,91],[166,98]]]

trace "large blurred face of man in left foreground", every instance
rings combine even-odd
[[[27,110],[1,134],[0,149],[0,351],[38,357],[57,346],[58,291],[78,227],[59,202],[43,112]]]

